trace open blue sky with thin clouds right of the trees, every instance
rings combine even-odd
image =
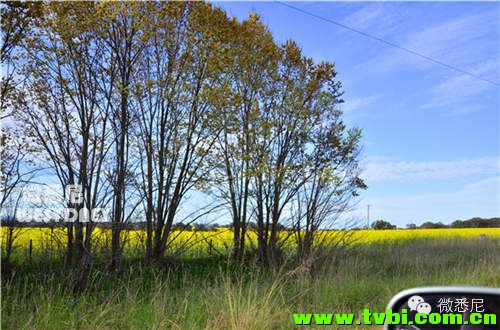
[[[500,216],[500,3],[215,2],[256,12],[275,41],[335,62],[345,122],[363,131],[363,192],[350,216],[404,228]]]

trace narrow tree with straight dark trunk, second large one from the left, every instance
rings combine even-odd
[[[98,4],[100,24],[99,42],[105,54],[105,95],[109,104],[111,151],[108,157],[108,175],[112,187],[112,233],[110,268],[119,270],[122,259],[121,232],[127,219],[127,197],[132,182],[130,161],[131,126],[135,120],[131,106],[131,90],[135,82],[137,63],[142,55],[140,40],[144,36],[144,21],[140,3]],[[134,209],[132,207],[132,209]]]

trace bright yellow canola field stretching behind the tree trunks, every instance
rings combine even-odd
[[[5,247],[7,229],[1,228],[2,249]],[[66,244],[66,230],[64,228],[16,228],[17,235],[14,245],[16,247],[28,248],[32,240],[33,250],[52,250],[63,248]],[[282,233],[281,238],[290,236]],[[326,241],[336,242],[345,240],[355,244],[369,243],[400,243],[414,239],[484,239],[500,238],[500,228],[458,228],[458,229],[394,229],[394,230],[355,230],[344,231],[321,231]],[[171,235],[170,248],[173,251],[182,249],[184,251],[209,251],[214,253],[226,253],[231,247],[232,232],[227,228],[215,231],[174,231]],[[122,238],[125,242],[126,251],[144,251],[146,233],[142,230],[123,231]],[[106,250],[111,245],[111,231],[107,229],[95,229],[92,234],[93,245],[97,249]],[[288,237],[286,245],[294,245],[294,236]],[[248,232],[246,243],[248,246],[256,246],[257,235]]]

